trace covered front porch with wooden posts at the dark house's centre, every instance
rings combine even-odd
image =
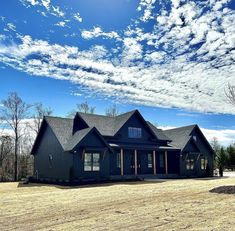
[[[170,146],[117,145],[110,158],[113,179],[174,178],[179,175],[180,151]]]

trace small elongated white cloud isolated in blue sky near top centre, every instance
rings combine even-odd
[[[82,30],[81,36],[84,39],[93,39],[97,37],[104,37],[104,38],[115,38],[118,39],[119,35],[115,31],[111,32],[104,32],[100,27],[94,27],[92,30]]]

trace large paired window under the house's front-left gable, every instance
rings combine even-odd
[[[100,153],[85,153],[84,171],[100,170]]]

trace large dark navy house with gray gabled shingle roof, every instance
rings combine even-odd
[[[40,181],[213,175],[213,150],[197,125],[163,131],[138,110],[116,117],[46,116],[32,154]]]

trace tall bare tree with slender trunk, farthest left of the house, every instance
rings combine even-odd
[[[8,98],[2,100],[2,104],[3,109],[0,111],[0,118],[10,126],[14,133],[14,180],[17,181],[20,123],[27,118],[30,105],[23,102],[16,92],[9,93]]]

